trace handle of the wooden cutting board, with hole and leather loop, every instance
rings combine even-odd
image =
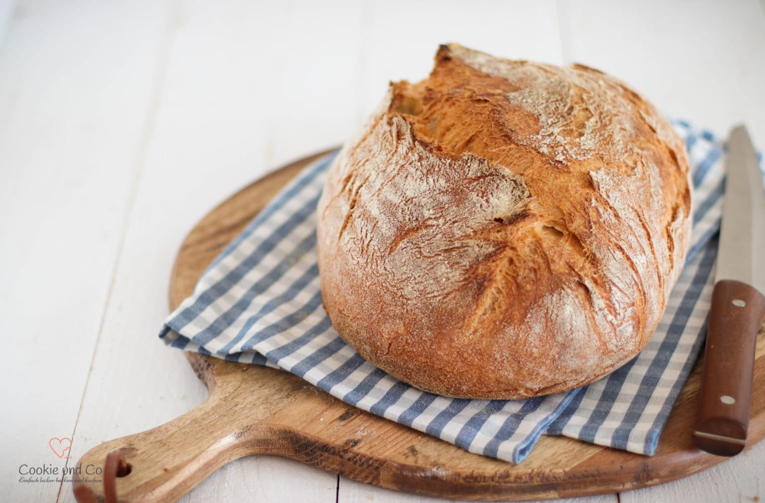
[[[265,432],[241,399],[216,391],[177,419],[90,449],[73,475],[77,501],[177,501],[220,466],[258,452]]]

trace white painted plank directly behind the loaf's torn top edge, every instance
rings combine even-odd
[[[363,22],[366,50],[359,122],[389,81],[424,79],[439,44],[457,42],[500,57],[561,63],[555,2],[373,2]]]

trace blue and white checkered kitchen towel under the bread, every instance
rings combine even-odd
[[[472,453],[520,462],[542,433],[652,455],[702,348],[721,214],[721,141],[676,122],[695,187],[692,248],[648,346],[584,388],[526,400],[426,393],[364,361],[321,306],[315,208],[334,154],[307,167],[213,262],[160,337],[169,345],[292,372],[365,411]]]

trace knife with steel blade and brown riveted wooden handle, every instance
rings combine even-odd
[[[765,193],[743,125],[725,159],[720,245],[693,442],[718,456],[747,443],[757,330],[765,316]]]

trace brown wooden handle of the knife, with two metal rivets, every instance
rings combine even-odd
[[[747,442],[757,330],[765,297],[734,280],[712,292],[707,343],[693,441],[718,456],[735,456]]]

